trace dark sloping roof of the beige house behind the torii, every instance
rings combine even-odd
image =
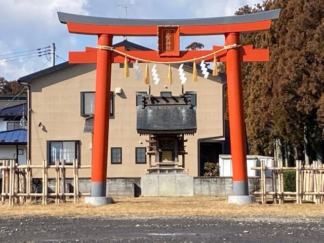
[[[125,46],[126,48],[129,48],[130,50],[141,50],[141,51],[152,50],[150,48],[135,44],[133,42],[129,42],[127,40],[124,40],[122,42],[119,42],[119,43],[116,43],[116,44],[113,45],[113,47],[122,47],[122,46]],[[60,63],[58,65],[53,66],[53,67],[49,67],[49,68],[46,68],[46,69],[31,73],[31,74],[28,74],[26,76],[20,77],[20,78],[18,78],[18,82],[19,83],[30,83],[32,81],[32,79],[34,79],[34,78],[44,76],[46,74],[58,71],[60,69],[69,67],[71,65],[76,65],[76,64],[71,64],[71,63],[68,63],[68,62],[62,62],[62,63]],[[180,64],[171,64],[171,66],[175,67],[175,68],[179,68]],[[190,63],[185,63],[185,65],[183,66],[183,69],[186,72],[192,73],[192,64],[190,65]],[[198,70],[198,72],[197,72],[198,76],[204,76],[204,74],[202,74],[201,71],[200,71],[200,66],[199,65],[197,65],[197,70]],[[208,72],[212,73],[212,70],[208,69]],[[221,83],[221,84],[224,84],[226,82],[226,75],[223,74],[223,73],[220,73],[219,76],[209,75],[208,79],[213,80],[213,81],[218,82],[218,83]]]

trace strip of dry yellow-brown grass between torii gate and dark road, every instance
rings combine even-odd
[[[324,216],[324,205],[227,204],[225,197],[136,197],[114,198],[115,203],[94,207],[84,203],[60,205],[0,206],[1,216]]]

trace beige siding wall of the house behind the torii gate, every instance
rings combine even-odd
[[[146,64],[139,64],[143,74]],[[151,67],[151,65],[150,65]],[[136,131],[135,92],[148,92],[149,86],[143,80],[137,80],[134,68],[130,68],[130,77],[123,76],[123,68],[112,64],[111,91],[121,87],[122,94],[114,94],[114,117],[109,121],[108,177],[140,177],[146,173],[148,165],[135,164],[135,147],[147,146],[145,139]],[[151,85],[151,94],[158,96],[160,91],[171,91],[173,95],[182,93],[177,68],[172,68],[173,85],[166,86],[167,65],[157,65],[160,77],[158,85]],[[197,139],[223,136],[223,86],[219,82],[198,76],[198,82],[192,82],[192,74],[184,85],[185,91],[197,91],[197,132],[186,136],[188,154],[185,166],[188,173],[197,176],[198,156]],[[48,140],[80,140],[80,164],[91,164],[91,133],[84,133],[85,118],[80,116],[80,92],[95,91],[96,70],[94,64],[76,64],[56,72],[38,77],[30,83],[30,155],[32,164],[42,164],[47,158]],[[152,82],[151,82],[152,83]],[[42,123],[41,127],[37,124]],[[143,144],[141,144],[141,142]],[[110,147],[122,147],[122,164],[110,164]],[[148,159],[147,159],[148,160]],[[181,161],[181,158],[180,158]],[[50,172],[51,175],[52,172]],[[69,172],[67,173],[69,176]],[[41,177],[41,172],[33,177]],[[70,175],[72,176],[72,175]],[[89,178],[90,170],[80,170],[79,176]]]

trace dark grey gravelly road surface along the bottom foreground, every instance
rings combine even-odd
[[[323,218],[10,217],[0,242],[323,242]]]

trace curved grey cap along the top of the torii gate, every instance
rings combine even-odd
[[[212,18],[194,18],[194,19],[122,19],[105,18],[77,15],[58,12],[59,21],[63,24],[92,24],[92,25],[114,25],[114,26],[158,26],[158,25],[215,25],[215,24],[236,24],[251,23],[264,20],[273,20],[279,17],[280,9],[264,11],[254,14],[235,15]]]

